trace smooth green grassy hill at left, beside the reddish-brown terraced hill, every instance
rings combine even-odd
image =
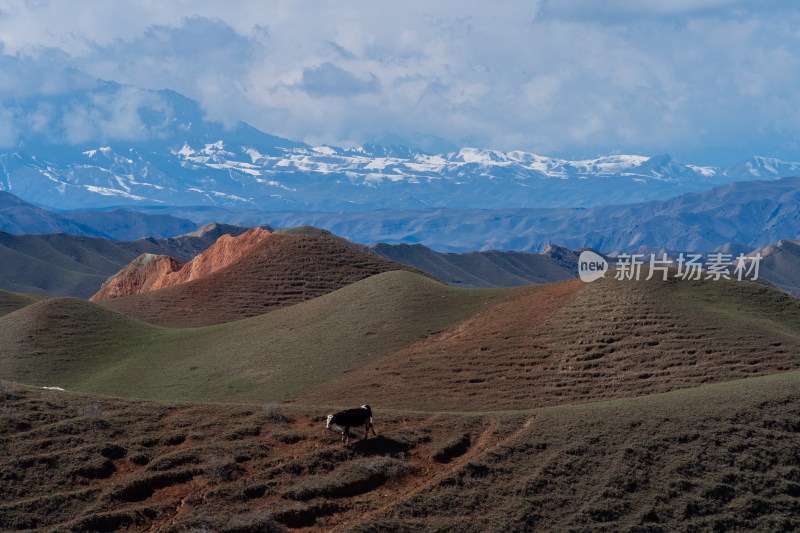
[[[56,298],[0,319],[0,375],[115,396],[275,401],[446,329],[504,294],[392,271],[196,329],[161,328]]]

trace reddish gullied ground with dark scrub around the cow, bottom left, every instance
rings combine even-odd
[[[419,492],[511,428],[377,409],[379,436],[345,447],[322,409],[0,387],[3,531],[337,528]]]

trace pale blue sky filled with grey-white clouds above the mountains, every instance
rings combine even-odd
[[[311,144],[800,161],[791,4],[0,0],[0,103],[100,78]]]

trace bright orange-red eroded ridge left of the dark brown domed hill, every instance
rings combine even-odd
[[[252,228],[237,237],[223,235],[188,263],[165,255],[140,255],[109,278],[90,301],[141,294],[200,279],[239,261],[271,234],[263,228]]]

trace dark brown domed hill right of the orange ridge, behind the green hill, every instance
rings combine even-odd
[[[327,236],[273,234],[201,279],[99,304],[167,327],[197,327],[264,314],[369,276],[416,269]]]

